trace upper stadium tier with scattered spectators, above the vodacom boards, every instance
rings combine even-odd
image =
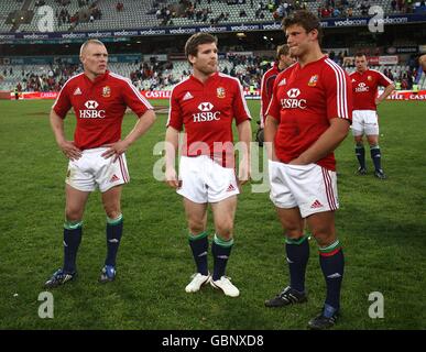
[[[271,22],[298,9],[320,18],[368,15],[372,6],[382,7],[386,14],[426,11],[424,1],[396,0],[6,0],[1,2],[0,31],[36,32],[35,13],[41,4],[56,9],[55,25],[59,31]],[[28,12],[29,22],[13,25],[11,19],[17,10]]]

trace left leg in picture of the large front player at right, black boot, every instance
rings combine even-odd
[[[305,294],[305,273],[309,260],[308,235],[304,234],[304,219],[298,207],[278,208],[276,213],[285,233],[285,250],[290,272],[290,286],[278,295],[265,300],[266,307],[283,307],[307,300]]]

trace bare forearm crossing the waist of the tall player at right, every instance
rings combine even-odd
[[[349,123],[350,122],[347,119],[331,119],[330,127],[319,136],[319,139],[297,158],[291,161],[290,164],[307,165],[316,163],[332,153],[347,136]]]

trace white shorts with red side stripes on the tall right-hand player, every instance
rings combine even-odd
[[[339,208],[336,172],[317,164],[269,161],[270,198],[277,208],[298,207],[302,218]]]

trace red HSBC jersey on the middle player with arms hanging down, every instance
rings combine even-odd
[[[237,124],[251,120],[237,78],[216,73],[203,84],[190,75],[172,90],[166,125],[185,128],[183,155],[209,155],[233,167],[233,119]]]

